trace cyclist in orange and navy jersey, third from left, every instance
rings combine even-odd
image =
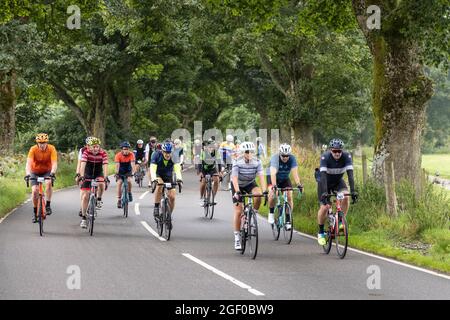
[[[115,178],[117,181],[117,208],[122,208],[122,184],[124,176],[128,176],[128,200],[133,202],[131,193],[131,176],[135,173],[134,153],[130,152],[131,145],[128,141],[120,144],[120,152],[116,154],[114,162],[116,163]]]

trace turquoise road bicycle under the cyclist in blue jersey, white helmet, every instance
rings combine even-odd
[[[294,216],[292,214],[291,205],[288,202],[288,191],[293,191],[292,187],[289,188],[277,188],[274,192],[274,198],[277,198],[277,204],[275,205],[275,222],[272,224],[272,234],[275,240],[280,237],[281,231],[283,232],[284,242],[290,244],[292,241],[292,234],[294,232]],[[296,188],[298,196],[301,197],[302,193],[300,189]],[[290,228],[287,228],[286,224],[290,223]]]

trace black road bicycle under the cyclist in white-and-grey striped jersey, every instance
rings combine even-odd
[[[250,258],[255,259],[258,253],[258,219],[255,208],[253,207],[253,198],[265,198],[264,205],[267,203],[267,194],[244,194],[241,195],[244,200],[244,212],[241,215],[241,254],[245,253],[247,244],[250,250]],[[248,199],[248,203],[246,203]]]

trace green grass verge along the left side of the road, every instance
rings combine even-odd
[[[112,151],[108,151],[109,175],[114,173],[113,155]],[[26,159],[20,156],[18,159],[14,164],[5,167],[4,176],[0,177],[0,218],[30,197],[31,188],[27,188],[23,180]],[[76,165],[76,161],[69,162],[63,159],[58,161],[54,190],[75,186]]]

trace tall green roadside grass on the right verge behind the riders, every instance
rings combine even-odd
[[[319,154],[300,154],[297,158],[305,190],[301,199],[294,197],[294,228],[316,236],[319,205],[314,168]],[[399,184],[399,213],[390,217],[385,210],[384,190],[371,180],[362,185],[357,166],[355,177],[359,201],[350,206],[347,215],[349,246],[450,274],[450,193],[428,184],[424,195],[416,199],[411,186]],[[259,210],[264,216],[268,211],[263,206]],[[317,245],[317,250],[322,248]]]

